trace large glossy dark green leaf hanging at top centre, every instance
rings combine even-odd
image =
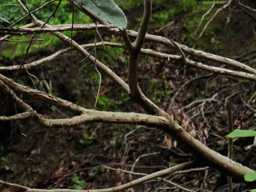
[[[126,29],[126,16],[113,0],[75,0],[75,2],[80,7],[86,8],[96,16],[117,26],[121,30]]]

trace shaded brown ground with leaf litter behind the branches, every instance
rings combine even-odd
[[[243,52],[238,48],[248,45],[254,46],[255,36],[252,32],[250,34],[248,32],[252,21],[248,20],[242,13],[241,15],[238,14],[237,18],[232,20],[234,23],[231,22],[224,32],[217,35],[228,34],[234,30],[234,25],[236,25],[235,29],[243,26],[244,30],[227,40],[224,50],[228,50],[228,56],[238,55],[236,56],[238,59],[245,60],[246,57],[241,55],[248,51],[245,49]],[[182,19],[180,18],[180,20]],[[186,31],[189,26],[184,26],[184,28],[178,26],[180,26],[179,23],[171,28],[161,30],[159,34],[172,33],[176,35],[176,38],[179,38],[182,35],[180,33]],[[248,30],[246,30],[246,26]],[[152,29],[150,33],[156,33],[156,31],[157,29]],[[184,43],[186,43],[186,39],[184,39]],[[210,44],[210,39],[208,43]],[[146,46],[159,51],[166,49],[157,44],[146,44]],[[60,44],[57,49],[63,47],[64,45]],[[100,54],[102,50],[98,51]],[[49,53],[40,52],[40,54],[36,53],[31,57],[36,59],[38,55],[43,56],[44,54],[48,55]],[[250,59],[253,58],[253,54],[249,54],[249,56]],[[112,59],[116,61],[116,64],[112,66],[113,70],[125,80],[127,66],[120,62],[118,56],[113,56]],[[13,62],[19,62],[19,60],[20,58],[16,58]],[[80,56],[74,56],[74,63],[78,63],[80,60],[82,60]],[[92,108],[98,89],[97,75],[94,75],[93,66],[88,64],[70,65],[69,61],[70,54],[65,54],[54,62],[56,67],[41,66],[34,73],[37,74],[38,78],[43,79],[45,77],[49,84],[52,82],[52,92],[58,93],[57,96]],[[256,68],[255,62],[250,64]],[[83,73],[84,68],[89,73]],[[224,100],[227,96],[235,94],[231,100],[234,128],[256,128],[256,112],[254,110],[256,109],[256,100],[253,99],[250,102],[252,109],[247,108],[244,104],[248,102],[255,91],[253,82],[215,76],[178,63],[161,59],[152,60],[152,58],[143,58],[139,70],[139,83],[146,95],[168,111],[194,138],[221,154],[227,154],[226,110],[224,108]],[[200,76],[201,78],[192,80],[192,78]],[[20,75],[20,81],[30,84],[24,74]],[[189,82],[188,85],[179,90],[186,82]],[[180,91],[180,94],[176,96],[174,105],[170,106],[171,99],[177,91]],[[115,94],[112,94],[113,92]],[[120,88],[104,76],[100,96],[102,96],[102,103],[100,101],[98,103],[99,110],[143,112],[127,96],[123,96]],[[108,100],[104,100],[104,98],[108,98]],[[206,98],[212,100],[206,101]],[[39,104],[26,100],[26,98],[24,100],[48,118],[65,118],[71,115],[44,103]],[[123,102],[118,102],[120,100]],[[198,102],[194,102],[196,100]],[[2,98],[0,104],[3,106],[1,115],[13,114],[8,100]],[[20,139],[18,122],[14,122],[13,148],[9,145],[11,139],[10,124],[0,125],[0,178],[4,181],[33,188],[86,189],[84,182],[89,189],[109,188],[119,186],[140,176],[131,176],[127,173],[104,168],[102,167],[104,165],[150,174],[175,164],[193,160],[189,151],[170,140],[162,131],[154,128],[95,123],[71,128],[42,129],[33,122],[21,122],[20,124],[22,132],[27,137]],[[234,160],[255,170],[255,148],[245,150],[252,143],[252,138],[236,140],[234,143]],[[12,150],[15,162],[12,162]],[[172,174],[166,179],[188,189],[213,190],[219,176],[220,174],[215,170],[205,168]],[[221,183],[219,186],[224,184],[226,183]],[[17,191],[3,186],[1,189],[4,192]],[[132,190],[150,191],[153,189],[178,191],[173,188],[173,185],[162,181],[147,182]]]

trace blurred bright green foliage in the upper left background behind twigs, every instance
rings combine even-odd
[[[3,3],[15,3],[15,0],[3,0]],[[47,3],[47,0],[31,0],[31,1],[27,1],[27,6],[30,9],[30,11],[44,5],[45,3]],[[33,14],[40,20],[44,21],[48,18],[48,16],[50,16],[50,14],[52,14],[56,4],[58,2],[54,2],[53,4],[49,4],[46,7],[34,12]],[[10,22],[13,23],[16,20],[20,19],[23,15],[24,15],[24,11],[20,8],[20,6],[14,6],[11,9],[10,8],[1,8],[0,7],[0,11],[1,11],[1,16],[8,16],[10,17]],[[31,19],[29,17],[25,18],[24,20],[22,20],[20,22],[20,24],[16,24],[16,27],[20,27],[23,26],[24,24],[27,24],[31,22]],[[57,24],[70,24],[72,23],[72,6],[70,6],[70,3],[68,2],[68,0],[63,0],[60,7],[58,8],[55,17],[51,18],[50,21],[48,22],[48,24],[51,25],[57,25]],[[75,9],[75,13],[74,13],[74,24],[79,24],[79,23],[92,23],[92,20],[84,15],[82,12],[80,12],[79,10]],[[3,22],[1,22],[0,20],[0,25],[4,25]],[[64,32],[65,35],[70,36],[71,32]],[[73,35],[76,34],[76,32],[73,32]],[[44,41],[40,41],[40,42],[33,42],[29,53],[33,52],[33,51],[37,51],[40,50],[41,48],[45,48],[47,46],[55,46],[56,44],[58,44],[60,42],[60,40],[51,35],[51,34],[38,34],[36,35],[35,38],[42,38],[45,39]],[[11,40],[29,40],[29,36],[13,36],[11,38]],[[6,57],[12,59],[15,56],[22,56],[25,53],[25,49],[28,46],[28,42],[22,42],[22,43],[17,43],[17,42],[8,42],[8,46],[12,47],[12,46],[16,46],[15,48],[15,52],[13,52],[12,50],[6,49],[6,50],[2,50],[2,54],[4,54]]]

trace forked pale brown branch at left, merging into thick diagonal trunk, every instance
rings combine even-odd
[[[116,124],[140,124],[151,127],[156,126],[168,126],[168,119],[160,116],[152,116],[146,114],[137,113],[123,113],[123,112],[102,112],[97,110],[89,110],[77,106],[66,100],[50,96],[44,92],[33,90],[25,86],[21,86],[8,78],[4,78],[0,74],[0,79],[3,79],[8,86],[14,89],[16,92],[34,98],[36,100],[44,101],[46,103],[58,106],[62,109],[72,111],[74,113],[80,113],[80,116],[74,116],[71,119],[45,119],[43,116],[37,114],[29,105],[25,104],[20,98],[14,94],[10,88],[3,81],[0,80],[0,90],[14,101],[14,103],[23,111],[29,111],[32,120],[42,127],[54,128],[54,127],[67,127],[84,124],[86,122],[102,122],[102,123],[116,123]],[[71,110],[72,109],[72,110]],[[36,119],[35,119],[36,117]],[[1,120],[1,118],[0,118]],[[3,120],[6,120],[3,118]]]

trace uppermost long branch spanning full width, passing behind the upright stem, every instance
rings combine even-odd
[[[72,30],[72,27],[70,25],[56,25],[56,26],[51,26],[51,27],[48,26],[48,28],[28,28],[28,27],[30,27],[30,26],[23,26],[22,28],[0,28],[0,34],[6,34],[6,32],[8,32],[8,34],[14,33],[16,35],[23,35],[23,34],[33,34],[33,33],[39,34],[39,33],[45,33],[45,32],[63,32],[63,31]],[[75,24],[74,25],[74,30],[76,30],[76,31],[79,31],[79,30],[86,31],[86,30],[94,30],[94,29],[95,29],[94,24],[86,24],[86,25]],[[98,29],[105,29],[105,30],[109,30],[110,32],[112,32],[112,31],[118,32],[118,28],[114,28],[113,26],[98,25]],[[138,32],[135,32],[132,30],[128,30],[127,34],[128,34],[128,36],[133,37],[133,38],[136,38],[138,36]],[[2,40],[4,40],[5,38],[8,38],[8,37],[5,36],[3,38],[0,38],[0,42]],[[145,40],[151,41],[151,42],[156,42],[159,44],[164,44],[166,46],[170,46],[171,48],[176,48],[176,46],[172,42],[170,42],[169,39],[163,38],[161,36],[146,34]],[[197,58],[202,58],[205,60],[210,60],[212,62],[217,62],[220,64],[225,64],[227,66],[236,68],[243,72],[248,72],[250,74],[256,74],[256,70],[254,68],[246,66],[245,64],[242,64],[241,62],[238,62],[238,61],[235,61],[235,60],[232,60],[229,58],[225,58],[222,56],[210,54],[207,52],[203,52],[200,50],[195,50],[195,49],[189,48],[188,46],[179,44],[177,42],[176,42],[176,44],[177,44],[177,46],[179,46],[181,48],[181,50],[184,53],[189,54],[191,56],[194,56]]]

